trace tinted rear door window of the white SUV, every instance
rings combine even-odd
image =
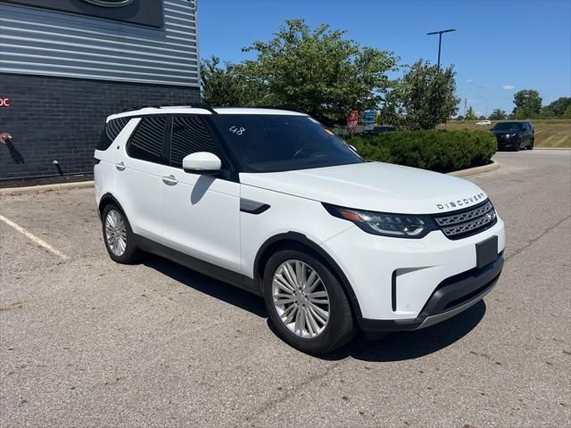
[[[131,158],[167,165],[164,151],[164,116],[144,116],[128,142]]]

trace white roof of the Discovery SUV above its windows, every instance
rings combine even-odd
[[[281,115],[281,116],[307,116],[307,114],[299,111],[279,110],[279,109],[265,109],[265,108],[252,108],[252,107],[221,107],[212,109],[218,114],[268,114],[268,115]],[[107,121],[118,118],[125,118],[128,116],[144,116],[148,114],[212,114],[212,111],[202,107],[192,107],[185,105],[171,105],[161,107],[142,107],[137,110],[122,111],[117,114],[112,114],[107,118]]]

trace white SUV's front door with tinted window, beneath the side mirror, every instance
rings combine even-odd
[[[170,248],[234,272],[240,263],[240,184],[212,137],[203,115],[172,117],[170,166],[161,184],[164,243]],[[217,176],[183,171],[194,152],[212,152],[222,161]]]

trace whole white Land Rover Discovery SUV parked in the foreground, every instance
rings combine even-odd
[[[322,353],[358,327],[434,325],[490,292],[504,225],[478,186],[364,161],[294,111],[145,107],[95,151],[115,261],[148,251],[263,296],[281,338]]]

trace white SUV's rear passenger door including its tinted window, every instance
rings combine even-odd
[[[115,197],[136,235],[162,243],[161,186],[167,166],[167,116],[143,116],[115,156]]]

